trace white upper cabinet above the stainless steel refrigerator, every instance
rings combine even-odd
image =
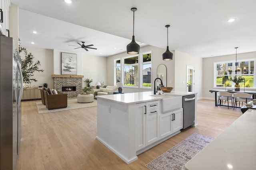
[[[0,0],[0,9],[2,9],[2,14],[0,14],[0,29],[1,32],[8,36],[8,32],[6,29],[9,29],[9,8],[10,8],[10,0]]]

